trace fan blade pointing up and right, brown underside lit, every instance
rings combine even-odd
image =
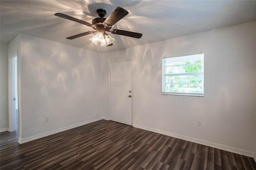
[[[126,11],[124,8],[117,7],[110,14],[110,16],[108,16],[108,18],[104,21],[104,23],[106,23],[106,24],[108,24],[110,26],[113,26],[114,24],[116,24],[116,22],[118,22],[119,20],[124,18],[127,14],[129,14],[129,12]]]

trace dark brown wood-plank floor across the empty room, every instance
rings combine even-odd
[[[253,158],[112,121],[24,144],[12,135],[0,136],[1,170],[256,170]]]

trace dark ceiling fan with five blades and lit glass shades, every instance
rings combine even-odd
[[[77,18],[74,18],[72,16],[68,16],[66,14],[62,13],[56,13],[55,16],[65,18],[74,22],[78,22],[80,24],[84,24],[86,26],[92,27],[96,31],[88,31],[81,34],[77,34],[71,37],[68,37],[67,39],[72,40],[75,38],[79,38],[82,36],[86,36],[88,34],[94,34],[95,32],[98,32],[96,35],[94,35],[90,40],[97,44],[97,42],[101,42],[101,46],[111,46],[113,45],[112,42],[114,42],[114,38],[110,37],[106,32],[111,32],[112,34],[118,34],[121,36],[128,36],[132,38],[141,38],[142,34],[136,33],[136,32],[130,32],[130,31],[124,31],[124,30],[116,30],[112,29],[111,27],[116,24],[119,20],[124,18],[129,12],[125,10],[124,8],[117,7],[108,18],[104,18],[106,15],[106,10],[98,9],[97,14],[100,18],[94,18],[92,20],[92,24],[85,22],[83,20],[79,20]]]

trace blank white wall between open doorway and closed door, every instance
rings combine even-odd
[[[21,35],[22,139],[102,118],[99,53]],[[44,123],[44,117],[49,122]]]

